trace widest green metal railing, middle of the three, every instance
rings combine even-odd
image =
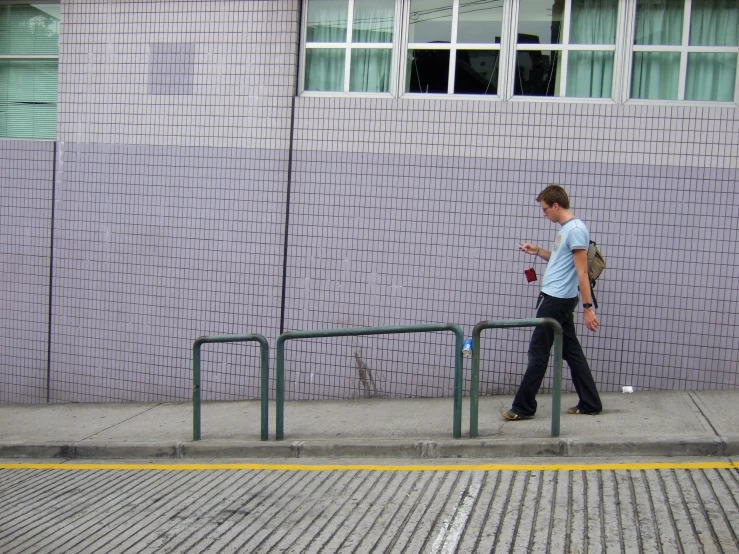
[[[288,331],[277,338],[277,366],[275,379],[277,386],[276,403],[276,431],[275,438],[284,438],[285,423],[285,342],[294,339],[313,339],[326,337],[353,337],[358,335],[396,335],[400,333],[433,333],[452,331],[456,336],[454,346],[454,415],[452,436],[458,439],[462,436],[462,346],[464,333],[459,325],[454,323],[422,323],[417,325],[396,325],[390,327],[355,327],[348,329],[324,329],[319,331]]]

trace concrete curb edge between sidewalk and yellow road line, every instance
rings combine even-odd
[[[176,443],[0,442],[0,458],[221,459],[221,458],[537,458],[613,456],[739,456],[739,435],[638,439],[462,440],[202,440]]]

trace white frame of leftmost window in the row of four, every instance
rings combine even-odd
[[[397,75],[395,68],[398,66],[398,56],[401,50],[399,28],[400,19],[402,18],[402,10],[404,7],[403,0],[395,0],[395,12],[393,20],[393,42],[352,42],[353,26],[354,26],[354,0],[347,0],[347,22],[346,22],[346,41],[344,42],[308,42],[308,3],[310,0],[303,2],[303,11],[301,14],[301,29],[300,29],[300,72],[298,75],[299,86],[298,95],[300,96],[361,96],[369,98],[392,98],[397,96]],[[345,50],[344,58],[344,90],[343,91],[317,91],[317,90],[305,90],[305,54],[308,49],[332,49],[332,50]],[[390,56],[390,86],[388,92],[352,92],[349,90],[350,79],[351,79],[351,57],[353,49],[378,49],[378,50],[391,50]]]

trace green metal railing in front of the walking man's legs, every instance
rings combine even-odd
[[[535,327],[548,325],[554,331],[554,383],[552,385],[552,436],[559,436],[559,411],[562,396],[562,326],[549,317],[481,321],[472,331],[472,374],[470,375],[470,438],[477,436],[480,404],[480,333],[484,329]]]

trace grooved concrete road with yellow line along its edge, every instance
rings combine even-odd
[[[3,554],[739,552],[739,464],[726,459],[18,462],[0,462]]]

